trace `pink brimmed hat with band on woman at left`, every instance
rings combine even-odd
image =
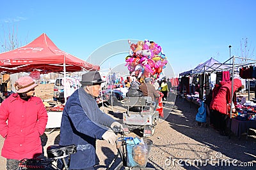
[[[28,92],[29,90],[34,89],[36,86],[38,86],[38,84],[36,84],[33,78],[29,76],[20,77],[14,83],[14,87],[17,93]]]

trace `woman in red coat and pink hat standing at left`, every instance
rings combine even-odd
[[[48,116],[42,100],[34,96],[36,86],[30,76],[20,77],[14,83],[17,93],[0,106],[0,134],[4,138],[1,154],[6,158],[7,170],[18,169],[19,160],[42,154],[40,136]]]

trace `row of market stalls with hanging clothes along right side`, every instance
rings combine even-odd
[[[235,63],[235,59],[241,59],[242,61],[246,62],[238,62]],[[232,89],[230,90],[230,99],[233,99],[234,96],[234,78],[246,78],[248,80],[252,80],[256,78],[256,67],[255,61],[253,59],[244,59],[241,57],[230,57],[230,59],[226,60],[223,63],[220,63],[218,61],[214,61],[212,58],[210,60],[207,60],[204,64],[198,64],[194,69],[191,69],[190,71],[186,71],[184,73],[180,73],[180,85],[183,85],[181,87],[180,91],[185,92],[184,98],[188,99],[188,101],[196,103],[200,105],[200,101],[205,101],[207,99],[207,90],[214,87],[214,84],[218,84],[220,81],[230,81],[232,80]],[[231,62],[232,61],[232,62]],[[230,64],[232,63],[232,64]],[[241,69],[244,71],[243,74],[241,74]],[[215,82],[212,83],[211,75],[212,73],[216,74],[216,77],[214,78]],[[253,75],[252,75],[253,74]],[[188,78],[193,78],[195,76],[198,76],[198,92],[196,94],[193,94],[193,90],[191,89],[191,84],[189,83]],[[200,77],[201,76],[201,77]],[[231,78],[231,79],[230,79]],[[184,80],[182,82],[182,79]],[[193,81],[192,80],[192,84]],[[186,83],[184,83],[186,82]],[[250,83],[248,83],[250,84]],[[193,87],[193,85],[192,85]],[[185,89],[185,90],[184,90]],[[188,89],[188,90],[187,90]],[[250,87],[248,87],[250,89]],[[200,94],[201,92],[201,94]],[[204,95],[202,95],[204,94]],[[246,98],[246,97],[244,97]],[[244,100],[244,103],[240,103],[241,99],[237,98],[236,101],[239,101],[239,103],[236,105],[236,113],[232,113],[230,110],[230,120],[227,124],[227,127],[230,128],[230,131],[236,134],[239,138],[241,134],[246,132],[248,134],[248,129],[255,129],[256,127],[256,120],[255,120],[255,105],[253,101],[250,101],[250,90],[248,90],[248,101]],[[206,101],[205,101],[206,102]],[[210,100],[211,102],[211,100]],[[247,103],[247,106],[244,105]],[[251,103],[250,107],[248,108],[248,103]]]

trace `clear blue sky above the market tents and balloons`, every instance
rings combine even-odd
[[[61,50],[86,60],[111,41],[149,39],[179,74],[211,57],[224,62],[229,52],[241,55],[245,38],[255,59],[255,6],[253,0],[2,1],[0,40],[15,25],[20,41],[45,32]]]

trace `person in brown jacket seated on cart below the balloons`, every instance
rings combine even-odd
[[[143,96],[149,96],[151,101],[155,101],[157,105],[157,97],[160,97],[159,92],[151,84],[151,78],[147,77],[144,81],[145,83],[140,85],[140,90],[143,92]]]

